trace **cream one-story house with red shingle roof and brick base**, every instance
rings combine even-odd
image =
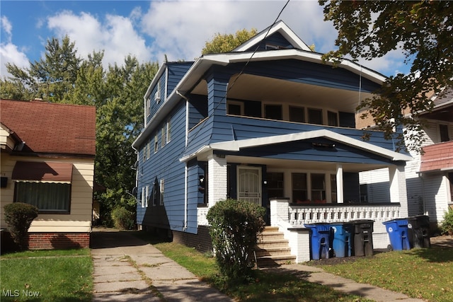
[[[2,212],[11,202],[38,207],[30,249],[88,247],[96,108],[0,100],[0,110]],[[7,228],[2,214],[2,235]]]

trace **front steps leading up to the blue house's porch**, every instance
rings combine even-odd
[[[266,226],[258,236],[256,260],[258,267],[270,267],[292,263],[296,256],[291,255],[288,240],[275,226]]]

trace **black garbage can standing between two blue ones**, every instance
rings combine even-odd
[[[353,220],[354,226],[354,255],[373,255],[373,226],[374,220]]]

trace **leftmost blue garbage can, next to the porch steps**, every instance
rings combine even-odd
[[[328,259],[331,250],[331,225],[328,223],[312,223],[304,226],[311,229],[311,259]]]

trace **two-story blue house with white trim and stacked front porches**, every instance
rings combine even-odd
[[[162,64],[133,143],[139,227],[204,249],[208,209],[234,198],[268,208],[287,238],[302,229],[302,250],[290,239],[297,261],[309,250],[304,223],[316,221],[374,219],[375,246],[386,248],[379,222],[407,214],[411,157],[355,128],[357,104],[385,77],[321,55],[280,21],[232,52]],[[377,168],[389,168],[390,197],[360,204],[359,173]]]

